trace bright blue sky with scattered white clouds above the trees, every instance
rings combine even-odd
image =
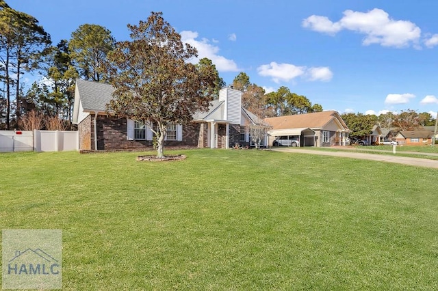
[[[209,57],[227,83],[246,72],[324,110],[438,110],[438,1],[7,0],[36,17],[54,44],[79,25],[128,40],[127,24],[151,11]]]

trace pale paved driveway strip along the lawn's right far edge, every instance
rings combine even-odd
[[[408,158],[406,156],[397,156],[396,154],[365,154],[362,152],[329,152],[323,150],[305,150],[302,148],[275,148],[277,152],[294,152],[297,154],[320,154],[324,156],[342,156],[345,158],[361,158],[363,160],[382,161],[387,163],[398,163],[417,167],[429,167],[438,169],[438,161],[428,160],[426,158]]]

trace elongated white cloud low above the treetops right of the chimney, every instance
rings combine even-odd
[[[309,81],[330,81],[333,77],[329,67],[307,68],[293,64],[278,64],[275,61],[259,66],[257,72],[260,76],[271,77],[275,83],[288,82],[296,77],[307,77]]]

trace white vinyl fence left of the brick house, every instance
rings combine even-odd
[[[0,152],[79,150],[79,132],[63,130],[0,130]]]

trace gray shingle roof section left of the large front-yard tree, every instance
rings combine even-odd
[[[77,79],[76,86],[81,96],[82,107],[89,111],[106,111],[112,99],[112,85]]]

